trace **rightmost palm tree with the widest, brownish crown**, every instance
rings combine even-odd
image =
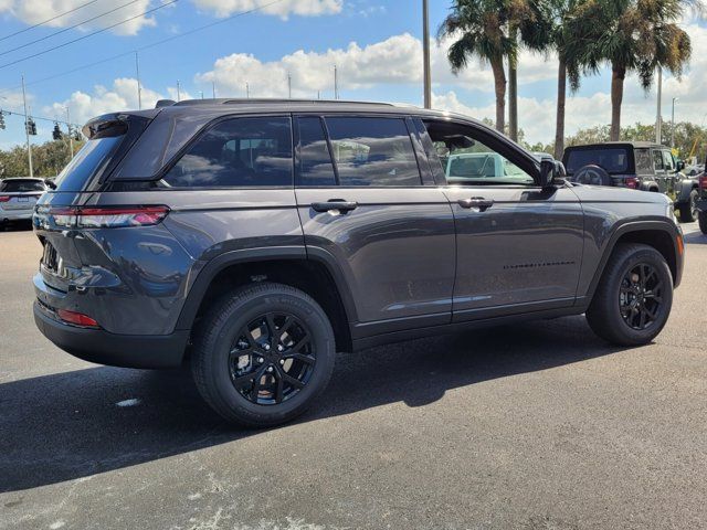
[[[626,75],[635,72],[648,91],[656,67],[680,75],[692,54],[689,35],[677,21],[690,0],[589,0],[577,8],[566,29],[571,56],[584,71],[611,66],[611,140],[621,136]]]

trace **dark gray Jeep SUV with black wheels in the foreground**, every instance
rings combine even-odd
[[[93,362],[189,360],[240,424],[304,412],[336,351],[581,314],[646,343],[680,282],[665,195],[569,183],[463,116],[162,102],[84,134],[33,218],[39,329]]]

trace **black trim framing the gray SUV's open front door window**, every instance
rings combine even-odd
[[[529,188],[541,188],[541,183],[540,183],[540,167],[539,167],[539,162],[530,155],[525,152],[525,150],[520,147],[517,146],[516,144],[513,144],[510,140],[506,139],[505,137],[503,137],[502,135],[499,135],[498,132],[496,132],[495,130],[482,125],[482,124],[477,124],[475,121],[466,121],[463,119],[458,119],[458,118],[441,118],[437,116],[420,116],[420,119],[422,121],[422,125],[425,128],[425,131],[428,131],[428,126],[425,124],[425,121],[440,121],[440,123],[445,123],[445,124],[454,124],[454,125],[458,125],[462,127],[468,127],[472,130],[474,130],[474,132],[476,132],[478,135],[478,138],[475,137],[475,139],[478,139],[481,142],[483,142],[486,147],[488,147],[489,149],[493,149],[495,152],[497,152],[498,155],[500,155],[502,157],[504,157],[506,160],[508,160],[509,162],[516,165],[518,168],[520,168],[521,170],[524,170],[526,173],[528,173],[529,177],[532,178],[532,186],[530,184],[520,184],[520,183],[513,183],[513,184],[484,184],[483,188],[488,188],[488,189],[493,189],[493,188],[502,188],[502,189],[513,189],[513,188],[518,188],[518,189],[523,189],[523,190],[527,190]],[[430,132],[428,131],[428,135]],[[510,156],[508,156],[508,155]],[[434,160],[436,163],[439,163],[440,166],[442,166],[442,160],[440,160],[440,157],[437,156],[436,151],[431,151],[430,153],[428,153],[428,156],[431,158],[430,163],[432,163],[432,160]],[[473,183],[469,184],[450,184],[446,181],[446,170],[444,170],[444,181],[443,182],[437,182],[437,187],[444,187],[444,188],[449,188],[449,187],[454,187],[454,188],[479,188],[481,186],[474,186]],[[439,180],[439,179],[437,179]]]

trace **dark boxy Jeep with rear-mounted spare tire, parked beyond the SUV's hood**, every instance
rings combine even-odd
[[[679,220],[697,220],[699,184],[687,177],[671,149],[644,141],[573,146],[562,157],[571,182],[630,188],[665,193],[679,211]]]

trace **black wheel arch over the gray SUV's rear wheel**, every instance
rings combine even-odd
[[[209,261],[198,273],[177,320],[176,329],[191,330],[212,301],[249,283],[274,282],[312,296],[327,312],[337,350],[351,350],[349,322],[356,308],[346,283],[326,252],[307,255],[304,246],[230,251]]]

